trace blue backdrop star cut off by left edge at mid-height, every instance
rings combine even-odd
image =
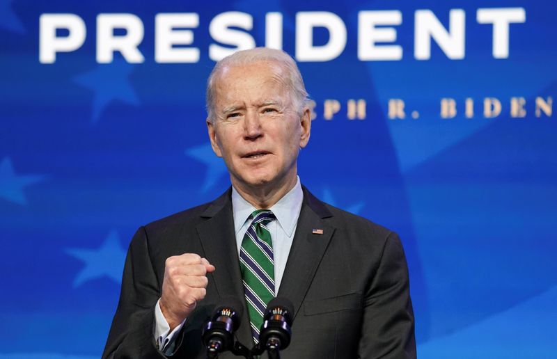
[[[0,198],[24,206],[27,204],[24,187],[41,182],[44,178],[42,175],[17,175],[12,161],[5,157],[0,163]]]

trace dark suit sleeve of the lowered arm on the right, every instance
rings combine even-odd
[[[408,268],[398,235],[386,238],[364,298],[359,358],[416,358]]]

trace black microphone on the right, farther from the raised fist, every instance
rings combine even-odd
[[[294,305],[286,298],[273,298],[267,304],[263,324],[259,331],[259,348],[269,352],[269,358],[278,358],[278,351],[286,349],[292,336]]]

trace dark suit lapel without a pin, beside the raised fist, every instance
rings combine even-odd
[[[221,297],[235,296],[244,303],[242,325],[237,331],[237,337],[240,342],[251,344],[251,329],[247,309],[245,308],[244,287],[236,248],[230,193],[231,190],[229,189],[205,209],[201,216],[207,218],[207,221],[197,225],[197,232],[207,260],[216,268],[211,276],[214,278],[217,293]]]

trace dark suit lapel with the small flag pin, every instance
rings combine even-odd
[[[317,271],[321,259],[327,250],[335,228],[323,219],[331,217],[329,209],[317,200],[309,191],[304,190],[304,202],[296,227],[292,248],[288,255],[286,268],[278,289],[277,296],[290,299],[294,305],[296,317],[302,301]],[[323,234],[314,234],[313,230],[323,230]]]

